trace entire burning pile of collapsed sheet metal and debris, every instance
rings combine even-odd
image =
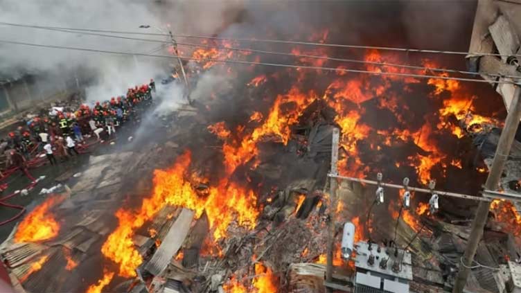
[[[136,154],[114,155],[118,163],[110,166],[92,157],[70,199],[48,199],[26,217],[15,244],[3,251],[21,286],[30,292],[265,293],[301,292],[306,286],[321,292],[321,283],[306,283],[292,264],[315,263],[323,270],[326,215],[334,209],[338,223],[355,224],[356,241],[392,241],[412,251],[414,286],[432,292],[448,287],[468,239],[468,226],[457,224],[470,217],[474,203],[442,199],[441,211],[432,215],[427,198],[413,195],[412,208],[402,210],[403,195],[390,193],[369,213],[374,190],[342,183],[338,205],[328,206],[331,133],[338,127],[342,134],[342,175],[382,172],[388,181],[409,177],[417,185],[436,179],[446,189],[477,193],[486,165],[476,160],[470,137],[500,126],[492,117],[502,105],[484,109],[479,100],[489,103],[489,97],[454,80],[236,68],[214,61],[260,60],[229,52],[193,51],[198,61],[186,65],[199,96],[193,96],[195,109],[180,110],[171,121],[164,134],[169,143],[132,160]],[[299,64],[331,62],[298,57],[327,56],[322,49],[299,47],[292,53]],[[374,50],[362,57],[400,63],[400,56]],[[387,73],[428,71],[360,66]],[[227,76],[222,84],[200,94],[205,76],[218,74]],[[136,177],[122,179],[125,170],[136,170]],[[483,264],[496,267],[506,263],[500,258],[515,255],[513,248],[501,250],[501,243],[519,240],[521,220],[507,203],[493,208],[516,215],[498,216],[493,237],[483,244],[482,254],[494,259]],[[337,227],[338,244],[340,231]],[[352,273],[353,263],[340,254],[337,245],[335,266]],[[58,277],[49,281],[51,274]],[[482,275],[476,274],[478,283]],[[65,285],[66,278],[78,282]]]

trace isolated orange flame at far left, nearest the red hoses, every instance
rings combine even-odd
[[[60,224],[50,209],[65,199],[62,195],[48,197],[31,211],[18,226],[15,242],[39,242],[58,236]]]

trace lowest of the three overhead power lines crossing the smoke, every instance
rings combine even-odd
[[[26,42],[15,42],[0,39],[0,43],[4,44],[15,44],[15,45],[23,45],[23,46],[35,46],[41,48],[58,48],[65,50],[74,50],[74,51],[87,51],[87,52],[95,52],[95,53],[107,53],[114,55],[136,55],[136,56],[146,56],[146,57],[159,57],[159,58],[172,58],[171,55],[152,55],[146,53],[132,53],[132,52],[121,52],[121,51],[107,51],[107,50],[99,50],[93,48],[78,48],[78,47],[70,47],[70,46],[55,46],[55,45],[44,45],[44,44],[33,44]],[[179,56],[182,60],[193,60],[193,61],[206,61],[206,62],[217,62],[217,63],[231,63],[231,64],[247,64],[247,65],[262,65],[262,66],[275,66],[275,67],[286,67],[286,68],[294,68],[294,69],[315,69],[315,70],[324,70],[324,71],[337,71],[337,72],[345,72],[345,73],[367,73],[376,76],[402,76],[402,77],[411,77],[411,78],[434,78],[441,80],[460,80],[466,82],[486,82],[486,83],[497,83],[497,84],[513,84],[513,85],[521,85],[518,82],[511,82],[507,80],[479,80],[473,78],[454,78],[450,76],[430,76],[424,74],[413,74],[413,73],[392,73],[385,71],[366,71],[366,70],[358,70],[358,69],[342,69],[342,68],[334,68],[334,67],[322,67],[322,66],[309,66],[309,65],[294,65],[294,64],[279,64],[279,63],[269,63],[269,62],[251,62],[251,61],[240,61],[240,60],[218,60],[207,58],[201,60],[200,58],[195,57],[186,57]]]

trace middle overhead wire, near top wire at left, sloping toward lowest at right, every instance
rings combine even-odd
[[[0,22],[0,24],[5,24]],[[81,34],[81,35],[94,35],[99,37],[111,37],[116,39],[127,39],[127,40],[134,40],[134,41],[142,41],[142,42],[157,42],[157,43],[163,43],[167,44],[168,42],[162,41],[160,39],[144,39],[144,38],[138,38],[138,37],[124,37],[119,35],[105,35],[100,33],[89,33],[76,30],[69,30],[65,28],[46,28],[41,26],[25,26],[25,25],[19,25],[23,27],[30,27],[30,28],[39,28],[44,30],[53,30],[58,31],[62,33],[75,33],[75,34]],[[162,35],[162,34],[157,34]],[[394,64],[394,63],[388,63],[388,62],[374,62],[374,61],[367,61],[367,60],[353,60],[353,59],[346,59],[346,58],[337,58],[337,57],[328,57],[328,56],[319,56],[319,55],[307,55],[307,54],[298,54],[298,53],[285,53],[285,52],[276,52],[276,51],[264,51],[264,50],[256,50],[251,48],[237,48],[237,47],[231,47],[231,46],[210,46],[205,44],[191,44],[191,43],[184,43],[184,42],[176,42],[179,46],[189,46],[189,47],[195,47],[195,48],[219,48],[223,50],[229,50],[229,51],[242,51],[242,52],[249,52],[249,53],[260,53],[260,54],[267,54],[267,55],[283,55],[283,56],[289,56],[289,57],[299,57],[299,58],[311,58],[311,59],[317,59],[317,60],[328,60],[328,61],[337,61],[337,62],[348,62],[348,63],[357,63],[357,64],[371,64],[376,66],[385,66],[385,67],[396,67],[396,68],[404,68],[404,69],[414,69],[414,70],[421,70],[421,71],[433,71],[433,72],[445,72],[445,73],[459,73],[459,74],[465,74],[465,75],[471,75],[471,76],[488,76],[491,78],[521,78],[520,76],[509,76],[509,75],[500,75],[495,73],[477,73],[472,71],[461,71],[457,69],[442,69],[442,68],[436,68],[436,67],[425,67],[425,66],[414,66],[414,65],[407,65],[407,64]],[[154,53],[154,52],[151,52]]]

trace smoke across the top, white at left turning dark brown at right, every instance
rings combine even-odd
[[[163,28],[169,26],[175,33],[281,39],[308,39],[310,31],[330,28],[332,32],[328,42],[396,46],[411,44],[416,47],[436,45],[436,48],[449,48],[454,44],[461,44],[459,36],[464,33],[463,30],[470,29],[471,26],[466,22],[470,22],[467,20],[470,19],[473,9],[463,8],[473,8],[475,4],[471,1],[464,2],[462,4],[455,1],[436,1],[426,3],[427,9],[425,3],[415,1],[387,1],[379,5],[364,1],[329,1],[306,2],[294,6],[290,1],[244,0],[1,0],[0,19],[19,24],[130,31],[139,31],[138,27],[141,24],[148,24]],[[433,10],[443,13],[435,13]],[[402,17],[396,18],[397,14]],[[368,23],[371,23],[371,26],[367,26]],[[451,29],[444,29],[448,25]],[[349,33],[340,33],[344,28],[349,28]],[[405,28],[405,34],[394,33],[400,28]],[[153,28],[143,30],[145,31],[157,33]],[[295,32],[300,34],[296,35]],[[161,50],[159,43],[12,26],[0,26],[0,34],[3,39],[58,46],[130,53]],[[165,38],[165,41],[168,40]],[[191,49],[182,48],[182,51]],[[104,100],[124,94],[127,87],[137,82],[165,76],[170,67],[168,63],[150,57],[136,57],[134,60],[129,56],[0,44],[0,73],[3,75],[44,75],[53,71],[68,76],[72,72],[87,72],[87,76],[94,76],[93,85],[87,89],[89,100]],[[209,85],[212,84],[215,82]]]

